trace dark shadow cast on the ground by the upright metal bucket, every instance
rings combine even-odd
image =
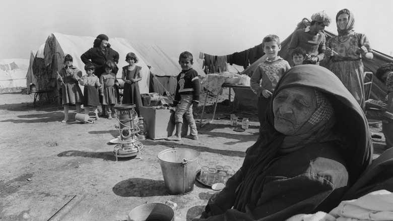
[[[149,191],[146,191],[149,190]],[[144,178],[130,178],[115,184],[112,188],[114,194],[121,197],[149,197],[167,196],[163,180],[151,180]]]

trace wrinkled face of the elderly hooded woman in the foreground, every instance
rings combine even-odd
[[[284,135],[293,135],[307,122],[315,109],[316,98],[313,89],[283,89],[273,100],[274,128]]]

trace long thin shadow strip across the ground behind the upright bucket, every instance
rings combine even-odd
[[[176,143],[176,142],[171,142],[171,141],[165,141],[165,140],[163,140],[163,141],[161,141],[161,140],[160,141],[144,140],[142,143],[144,145],[148,145],[148,146],[163,145],[163,146],[168,146],[168,147],[174,147],[174,146],[175,147],[187,147],[187,148],[192,148],[192,149],[198,150],[200,152],[211,152],[211,153],[218,153],[218,154],[225,155],[225,156],[245,157],[244,151],[212,149],[210,147],[205,147],[205,146],[192,146],[192,145]]]

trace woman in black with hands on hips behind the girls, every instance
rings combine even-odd
[[[100,78],[102,73],[105,73],[104,64],[106,61],[112,61],[115,63],[115,67],[112,69],[113,74],[117,74],[119,68],[117,63],[119,63],[119,53],[113,50],[108,43],[108,36],[105,34],[100,34],[94,40],[93,47],[82,54],[81,60],[83,63],[93,63],[95,66],[94,74]],[[117,91],[118,92],[118,91]],[[119,94],[119,93],[117,93]],[[101,116],[105,116],[105,107],[102,104],[102,96],[100,95],[101,103]]]

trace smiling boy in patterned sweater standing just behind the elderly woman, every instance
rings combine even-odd
[[[262,41],[262,45],[267,58],[255,68],[250,79],[251,90],[258,96],[258,120],[260,126],[263,126],[265,122],[266,109],[277,82],[291,68],[287,61],[278,56],[281,44],[277,35],[266,36]]]

